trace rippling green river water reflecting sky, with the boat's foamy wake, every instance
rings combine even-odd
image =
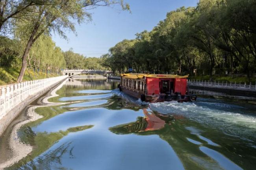
[[[0,139],[0,167],[255,169],[256,105],[211,97],[149,104],[119,92],[118,83],[70,79],[48,99],[62,104],[37,104],[26,122],[25,110]]]

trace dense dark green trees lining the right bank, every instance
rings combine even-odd
[[[256,72],[256,0],[199,0],[167,13],[152,31],[102,56],[113,71],[193,74]],[[111,65],[110,63],[116,63]]]

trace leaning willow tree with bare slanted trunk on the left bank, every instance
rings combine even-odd
[[[75,32],[75,20],[80,24],[85,19],[91,20],[91,14],[87,10],[98,6],[109,6],[111,4],[121,4],[122,9],[129,9],[128,4],[123,0],[55,0],[49,4],[42,1],[41,5],[28,7],[26,14],[16,21],[17,30],[26,34],[27,41],[22,55],[22,67],[17,82],[22,81],[24,76],[28,53],[33,43],[42,35],[50,32],[58,33],[61,37],[67,38],[65,30]],[[22,28],[22,29],[19,29]]]

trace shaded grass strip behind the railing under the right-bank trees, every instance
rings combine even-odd
[[[206,80],[206,81],[208,81],[208,80],[210,80],[210,76],[197,76],[197,78],[195,78],[195,77],[189,77],[189,79],[190,80],[200,80],[200,81],[204,81],[204,80]],[[211,81],[216,81],[216,82],[224,82],[224,83],[226,83],[226,81],[228,82],[228,83],[230,83],[230,82],[232,82],[232,83],[240,83],[241,82],[241,84],[244,84],[245,82],[246,82],[246,84],[250,84],[250,82],[252,83],[252,85],[255,85],[255,81],[256,81],[256,78],[255,77],[252,77],[252,78],[250,78],[250,81],[248,80],[248,78],[247,77],[232,77],[232,76],[217,76],[217,75],[213,75],[212,76],[212,80]]]

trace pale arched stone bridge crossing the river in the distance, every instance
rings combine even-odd
[[[106,70],[86,70],[86,69],[73,69],[73,70],[63,70],[63,76],[76,76],[79,74],[100,74],[106,77],[111,77],[113,72]]]

